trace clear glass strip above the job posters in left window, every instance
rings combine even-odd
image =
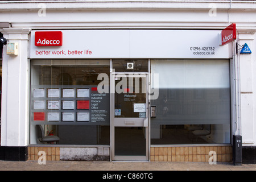
[[[31,71],[31,85],[98,85],[100,73],[109,75],[109,65],[34,65]]]

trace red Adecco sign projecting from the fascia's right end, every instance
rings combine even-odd
[[[221,31],[221,45],[223,46],[235,39],[237,39],[236,23],[232,23]]]

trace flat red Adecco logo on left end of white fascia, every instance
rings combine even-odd
[[[62,46],[62,32],[35,32],[35,46]]]

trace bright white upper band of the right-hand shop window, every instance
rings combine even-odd
[[[151,61],[151,73],[168,78],[159,79],[159,88],[229,88],[227,70],[229,61],[226,60]]]

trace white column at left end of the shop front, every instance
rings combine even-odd
[[[9,42],[18,43],[18,56],[7,55],[7,46],[3,46],[1,146],[27,146],[30,29],[3,28],[0,31]]]

